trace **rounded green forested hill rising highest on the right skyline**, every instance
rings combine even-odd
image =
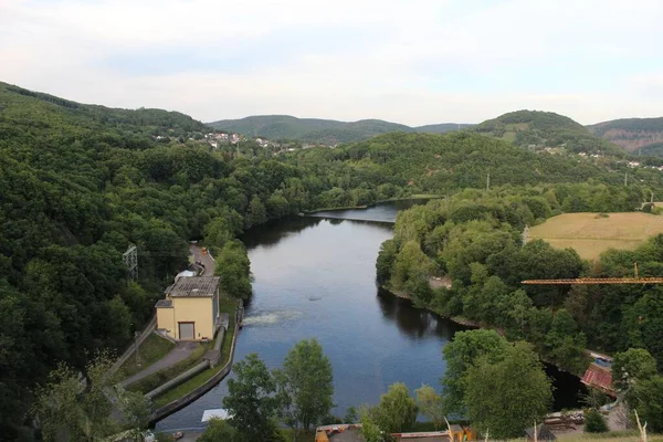
[[[579,123],[551,112],[512,112],[469,130],[535,150],[558,148],[571,152],[624,155],[618,146],[597,137]]]

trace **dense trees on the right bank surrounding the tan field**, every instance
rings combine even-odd
[[[632,211],[642,189],[559,185],[493,192],[464,191],[399,214],[394,238],[377,260],[378,281],[445,316],[497,327],[532,343],[562,369],[580,373],[587,346],[607,351],[644,347],[663,355],[659,288],[636,285],[537,286],[524,280],[661,276],[659,235],[634,252],[610,251],[597,265],[544,241],[524,244],[525,225],[562,211]],[[431,275],[452,288],[431,288]],[[661,361],[661,360],[660,360]]]

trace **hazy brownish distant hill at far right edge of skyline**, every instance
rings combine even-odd
[[[588,128],[629,151],[663,157],[663,117],[614,119]]]

